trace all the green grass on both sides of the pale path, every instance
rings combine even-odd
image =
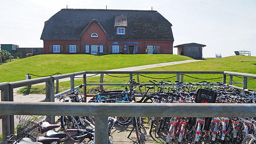
[[[67,58],[68,57],[68,58]],[[115,68],[125,68],[139,65],[147,65],[153,63],[161,63],[168,61],[179,61],[188,60],[191,58],[179,56],[179,55],[39,55],[23,59],[24,61],[14,61],[13,65],[10,63],[13,69],[22,71],[19,78],[21,80],[25,79],[25,74],[31,73],[35,75],[51,75],[56,72],[62,74],[79,72],[79,71],[101,71]],[[33,61],[33,62],[30,62]],[[34,64],[37,63],[37,64]],[[17,66],[17,65],[20,66]],[[22,64],[22,65],[21,65]],[[5,64],[4,64],[5,65]],[[3,66],[3,65],[2,65]],[[2,67],[0,66],[0,68]],[[7,65],[6,65],[7,66]],[[15,68],[17,67],[17,68]],[[29,68],[31,67],[31,68]],[[45,68],[45,69],[43,69]],[[165,67],[144,69],[141,71],[231,71],[240,73],[250,73],[256,74],[256,57],[252,56],[230,56],[219,59],[209,59],[197,62],[190,62],[184,64],[177,64]],[[2,72],[1,72],[2,73]],[[113,76],[127,76],[121,74],[115,74]],[[148,77],[152,78],[148,78]],[[156,75],[156,74],[145,74],[140,76],[140,83],[149,83],[149,80],[157,81],[160,80],[170,80],[174,82],[176,80],[175,74],[172,75]],[[191,77],[189,77],[191,76]],[[18,77],[18,75],[17,75]],[[17,81],[18,78],[13,78],[12,81]],[[173,78],[168,78],[173,77]],[[193,78],[196,77],[196,78]],[[32,78],[36,78],[35,76]],[[134,76],[136,79],[136,76]],[[167,78],[167,79],[164,79]],[[217,78],[217,79],[216,79]],[[3,79],[3,78],[2,78]],[[228,81],[229,77],[227,77]],[[206,80],[208,82],[222,82],[222,75],[205,75],[205,74],[189,74],[184,76],[184,82],[188,83],[198,83],[199,81]],[[236,82],[243,82],[243,78],[234,77]],[[3,80],[2,80],[3,81]],[[99,83],[99,76],[87,78],[87,83]],[[125,83],[129,81],[129,77],[112,77],[104,76],[104,83]],[[137,81],[137,79],[136,79]],[[83,83],[83,79],[75,80],[75,85],[80,85]],[[242,84],[234,84],[236,86],[242,87]],[[60,91],[69,89],[70,82],[61,82]],[[45,88],[45,86],[38,86],[40,89]],[[88,86],[91,87],[91,86]],[[87,87],[87,88],[88,88]],[[105,87],[107,90],[122,89],[123,87]],[[256,80],[248,79],[248,89],[256,90]],[[91,89],[92,91],[94,88]],[[88,89],[87,89],[88,91]],[[44,90],[42,91],[44,92]],[[36,93],[36,92],[35,92]]]

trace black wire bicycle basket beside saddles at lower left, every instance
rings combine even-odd
[[[22,138],[30,138],[35,142],[37,135],[41,133],[44,116],[18,115],[17,118],[19,124],[16,141],[20,141]]]

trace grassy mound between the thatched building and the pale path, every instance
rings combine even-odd
[[[45,54],[14,60],[0,65],[0,83],[25,80],[26,74],[49,76],[80,71],[103,71],[155,63],[191,60],[192,58],[171,54]],[[31,78],[38,78],[31,76]]]

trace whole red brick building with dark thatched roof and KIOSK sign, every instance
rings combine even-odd
[[[171,26],[157,11],[62,9],[41,39],[44,54],[172,54]]]

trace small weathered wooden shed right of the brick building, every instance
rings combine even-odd
[[[196,44],[196,43],[189,43],[189,44],[180,44],[174,47],[178,48],[177,55],[184,55],[196,60],[203,59],[203,47],[206,45],[204,44]]]

